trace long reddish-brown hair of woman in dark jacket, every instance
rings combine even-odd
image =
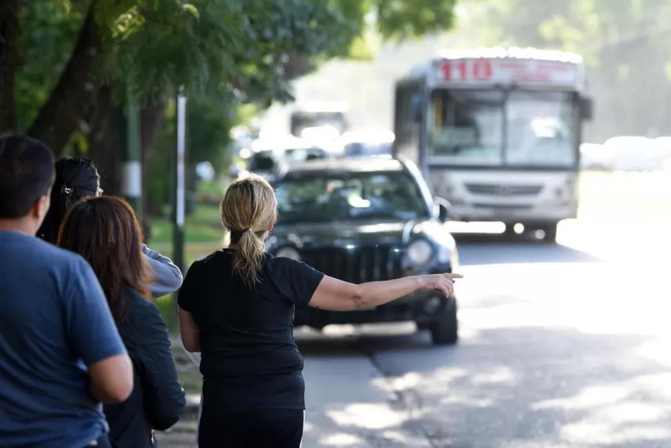
[[[87,197],[66,213],[58,246],[89,262],[117,322],[128,312],[127,288],[149,297],[149,265],[142,253],[142,231],[133,209],[121,198]]]

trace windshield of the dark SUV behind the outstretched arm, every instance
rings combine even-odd
[[[278,224],[428,217],[419,186],[402,171],[288,174],[275,192]]]

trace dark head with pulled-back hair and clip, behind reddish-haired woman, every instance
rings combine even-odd
[[[89,159],[61,157],[56,161],[56,179],[51,190],[51,207],[37,236],[56,244],[58,229],[68,209],[84,197],[100,196],[100,174]]]

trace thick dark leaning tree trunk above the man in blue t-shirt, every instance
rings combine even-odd
[[[98,94],[92,73],[93,63],[100,54],[101,46],[91,7],[58,84],[28,129],[28,135],[44,142],[55,154],[62,153],[80,120],[91,113]]]

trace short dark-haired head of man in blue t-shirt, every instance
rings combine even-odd
[[[49,208],[53,154],[33,138],[0,136],[0,222],[35,235]]]

